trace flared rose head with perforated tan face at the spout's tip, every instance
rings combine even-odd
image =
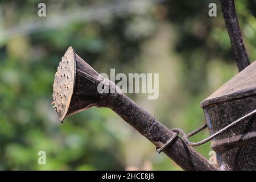
[[[102,84],[105,83],[105,84]],[[61,58],[53,83],[53,107],[59,120],[92,106],[104,106],[98,85],[114,85],[97,73],[69,47]]]

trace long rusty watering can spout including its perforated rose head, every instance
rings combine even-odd
[[[162,148],[163,152],[181,168],[218,170],[179,138],[177,133],[152,117],[125,96],[112,81],[90,67],[72,47],[65,52],[55,74],[53,105],[61,122],[64,118],[92,106],[108,107],[155,144],[158,151]]]

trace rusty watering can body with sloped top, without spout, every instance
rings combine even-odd
[[[210,134],[256,108],[256,61],[201,102]],[[222,170],[256,170],[256,115],[212,140]]]

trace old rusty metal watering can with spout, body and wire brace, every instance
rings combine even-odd
[[[185,170],[256,170],[255,70],[254,62],[201,102],[207,124],[185,134],[181,129],[168,129],[69,47],[55,74],[52,104],[61,122],[92,106],[108,107],[155,144],[157,152],[163,151]],[[98,86],[115,92],[98,92]],[[195,143],[188,140],[206,127],[209,138]],[[217,153],[218,166],[192,147],[209,140]]]

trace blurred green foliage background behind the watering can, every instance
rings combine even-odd
[[[99,73],[159,73],[159,98],[129,94],[164,125],[192,131],[200,101],[237,74],[216,0],[42,1],[0,3],[0,169],[180,170],[110,109],[57,121],[52,84],[73,46]],[[208,16],[210,2],[217,17]],[[256,59],[256,1],[237,0],[245,45]],[[193,137],[208,137],[207,130]],[[196,147],[209,158],[210,142]],[[46,151],[46,165],[38,152]]]

